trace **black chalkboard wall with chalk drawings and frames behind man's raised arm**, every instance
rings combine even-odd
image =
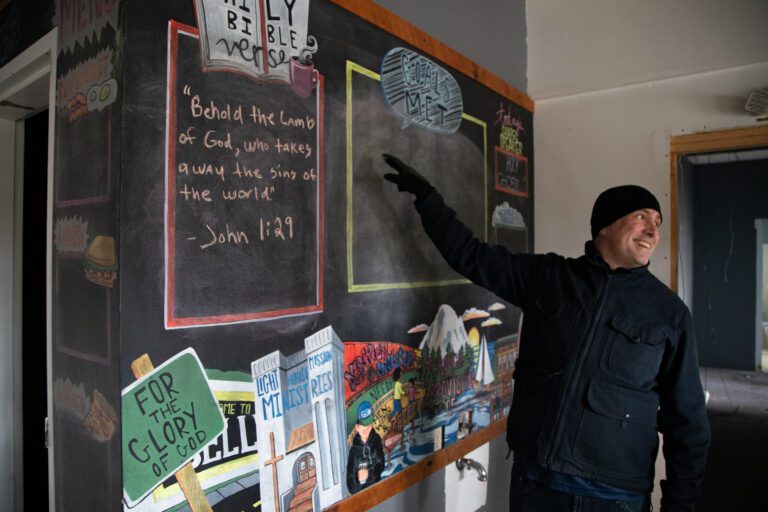
[[[461,315],[497,301],[442,261],[412,197],[382,179],[382,153],[424,174],[479,237],[533,249],[530,100],[455,69],[489,77],[419,33],[406,42],[342,7],[367,2],[301,4],[311,62],[227,47],[258,61],[260,78],[216,62],[196,2],[103,5],[91,20],[100,37],[69,23],[58,62],[62,509],[120,508],[120,390],[143,354],[159,365],[194,349],[209,378],[226,383],[216,398],[231,406],[228,430],[247,455],[257,437],[243,412],[253,361],[294,354],[327,326],[343,342],[418,347],[423,332],[409,330],[441,305]],[[274,38],[279,47],[294,36]],[[494,335],[516,333],[519,312],[494,309]],[[86,484],[93,492],[79,491]]]

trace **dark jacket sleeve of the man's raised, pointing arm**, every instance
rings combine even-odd
[[[537,256],[513,254],[502,246],[479,240],[435,190],[414,204],[424,231],[452,269],[502,299],[522,306],[530,292]]]

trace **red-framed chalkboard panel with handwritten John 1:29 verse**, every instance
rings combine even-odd
[[[199,35],[169,24],[168,328],[323,309],[322,77],[317,74],[316,89],[297,91],[296,82],[257,81],[252,73],[204,72],[203,32],[212,37],[221,27],[211,22],[222,19],[203,25],[201,18]],[[269,94],[255,95],[257,83]],[[249,272],[226,279],[246,260]]]

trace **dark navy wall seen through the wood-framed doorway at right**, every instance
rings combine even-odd
[[[756,243],[755,219],[768,217],[764,195],[768,160],[759,156],[740,152],[720,155],[717,161],[691,158],[689,277],[699,361],[704,367],[754,371],[760,366],[756,313],[761,308],[755,290],[762,282],[762,261],[759,268],[756,265],[762,243]]]

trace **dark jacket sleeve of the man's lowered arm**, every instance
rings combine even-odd
[[[659,430],[667,469],[667,478],[661,482],[661,510],[693,512],[704,479],[710,429],[687,309],[676,336],[659,379]]]

